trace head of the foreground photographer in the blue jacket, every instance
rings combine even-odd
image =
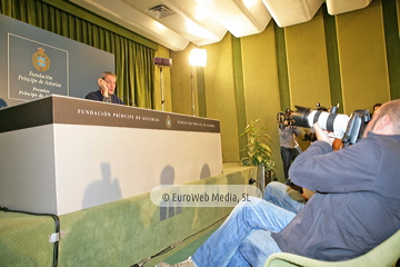
[[[400,135],[400,99],[386,102],[373,112],[363,136],[369,131],[377,135]]]

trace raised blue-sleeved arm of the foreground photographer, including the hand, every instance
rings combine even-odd
[[[373,186],[380,168],[370,164],[379,161],[376,139],[332,152],[329,137],[322,132],[320,138],[323,141],[313,142],[291,165],[289,176],[296,185],[320,192],[361,191]]]

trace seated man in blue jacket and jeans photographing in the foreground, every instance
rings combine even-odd
[[[316,191],[299,214],[251,197],[179,266],[263,266],[280,251],[347,260],[400,229],[400,99],[382,105],[363,138],[339,151],[314,129],[318,141],[289,170],[294,184]]]

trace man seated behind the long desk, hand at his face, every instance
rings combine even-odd
[[[117,76],[112,71],[102,72],[101,77],[98,79],[99,90],[89,92],[84,98],[102,102],[124,105],[119,97],[113,95],[116,90],[116,80]]]

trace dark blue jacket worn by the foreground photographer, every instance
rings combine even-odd
[[[317,194],[280,233],[282,251],[329,261],[356,258],[400,229],[400,136],[369,134],[332,152],[316,141],[292,164],[296,185]]]

